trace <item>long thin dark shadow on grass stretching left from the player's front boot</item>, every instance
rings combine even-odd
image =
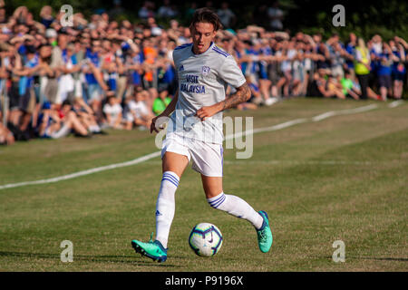
[[[0,251],[0,256],[15,256],[15,257],[28,257],[28,258],[35,258],[35,259],[57,259],[60,261],[61,256],[57,254],[48,254],[48,253],[24,253],[24,252],[5,252]],[[153,266],[153,267],[180,267],[171,264],[159,264],[159,263],[152,263],[151,260],[143,259],[141,260],[141,256],[114,256],[114,255],[102,255],[102,256],[94,256],[94,255],[75,255],[73,254],[73,261],[86,261],[86,262],[94,262],[94,263],[118,263],[122,265],[131,265],[131,266]]]

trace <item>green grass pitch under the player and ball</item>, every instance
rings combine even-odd
[[[294,99],[258,111],[263,128],[372,102]],[[131,239],[155,230],[160,158],[76,179],[0,190],[0,271],[407,271],[408,105],[306,121],[254,135],[253,156],[225,151],[224,191],[267,210],[268,254],[246,221],[210,208],[199,174],[187,169],[164,264],[136,255]],[[309,119],[307,119],[309,120]],[[84,140],[31,140],[0,147],[0,186],[134,160],[158,151],[147,131],[110,131]],[[217,256],[189,249],[189,230],[217,225]],[[73,263],[63,263],[63,240]],[[335,240],[345,263],[335,263]]]

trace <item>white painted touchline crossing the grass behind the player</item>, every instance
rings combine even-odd
[[[399,102],[397,105],[402,104],[403,102],[400,101],[396,101]],[[391,106],[391,104],[393,104],[395,102],[392,102],[388,105],[389,108],[394,108],[397,105],[393,105]],[[225,137],[225,140],[230,140],[230,139],[235,139],[238,138],[240,136],[242,136],[244,133],[246,135],[250,135],[250,134],[255,134],[255,133],[261,133],[261,132],[267,132],[267,131],[278,131],[278,130],[282,130],[291,126],[294,126],[296,124],[300,124],[300,123],[305,123],[307,121],[322,121],[325,120],[327,118],[336,116],[336,115],[346,115],[346,114],[355,114],[355,113],[359,113],[359,112],[364,112],[364,111],[371,111],[378,108],[377,104],[371,104],[371,105],[367,105],[367,106],[363,106],[363,107],[357,107],[354,109],[345,109],[345,110],[340,110],[340,111],[327,111],[323,114],[317,115],[315,117],[312,118],[304,118],[304,119],[295,119],[292,121],[286,121],[271,127],[264,127],[264,128],[257,128],[254,130],[249,130],[249,131],[244,131],[244,132],[239,132],[236,134],[230,134],[227,135]],[[110,169],[118,169],[118,168],[122,168],[122,167],[127,167],[127,166],[131,166],[131,165],[136,165],[139,164],[141,162],[144,162],[146,160],[151,160],[155,157],[159,157],[160,156],[160,151],[156,151],[153,152],[151,154],[147,154],[144,156],[141,156],[135,160],[130,160],[130,161],[126,161],[126,162],[121,162],[121,163],[114,163],[111,165],[106,165],[106,166],[102,166],[102,167],[97,167],[97,168],[93,168],[93,169],[86,169],[86,170],[82,170],[82,171],[78,171],[78,172],[74,172],[71,174],[67,174],[67,175],[63,175],[60,177],[55,177],[55,178],[51,178],[51,179],[40,179],[40,180],[34,180],[34,181],[24,181],[24,182],[18,182],[18,183],[10,183],[10,184],[5,184],[5,185],[0,185],[0,190],[1,189],[12,189],[12,188],[18,188],[18,187],[23,187],[26,185],[35,185],[35,184],[45,184],[45,183],[53,183],[53,182],[58,182],[58,181],[62,181],[62,180],[67,180],[67,179],[75,179],[81,176],[85,176],[85,175],[90,175],[92,173],[97,173],[97,172],[101,172],[104,170],[110,170]]]

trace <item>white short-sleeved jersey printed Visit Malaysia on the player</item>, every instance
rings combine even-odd
[[[171,114],[167,138],[172,134],[222,144],[222,111],[201,121],[194,115],[203,106],[225,100],[228,84],[238,88],[246,80],[235,59],[214,43],[205,53],[194,54],[192,43],[176,47],[173,60],[179,79],[179,99]]]

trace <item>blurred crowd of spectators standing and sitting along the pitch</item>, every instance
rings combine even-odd
[[[238,110],[294,96],[402,97],[408,44],[398,36],[365,42],[350,34],[343,43],[336,34],[324,40],[258,25],[232,30],[236,17],[228,5],[217,11],[225,27],[215,42],[235,57],[252,92]],[[172,52],[191,42],[189,27],[174,18],[178,13],[170,1],[157,11],[147,1],[139,23],[117,22],[106,12],[89,19],[75,13],[73,24],[63,26],[63,14],[51,6],[35,21],[25,6],[7,16],[0,0],[0,144],[149,128],[177,91]],[[169,19],[169,28],[156,23],[159,16]]]

